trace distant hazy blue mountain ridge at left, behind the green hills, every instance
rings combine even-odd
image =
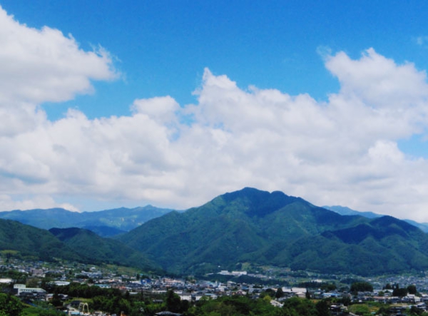
[[[96,212],[71,212],[63,208],[47,210],[11,210],[0,212],[0,218],[49,230],[50,228],[86,228],[103,237],[126,233],[152,218],[171,210],[147,205],[140,208],[115,208]]]

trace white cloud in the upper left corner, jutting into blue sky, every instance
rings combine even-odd
[[[116,78],[103,49],[83,51],[72,36],[31,29],[0,8],[0,101],[66,101],[92,91],[91,80]]]

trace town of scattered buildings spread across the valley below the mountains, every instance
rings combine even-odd
[[[278,308],[293,297],[328,302],[327,315],[404,315],[409,312],[422,315],[428,310],[428,277],[424,272],[360,277],[258,267],[251,272],[219,270],[200,277],[177,277],[151,275],[114,265],[8,258],[1,262],[0,277],[2,292],[14,295],[24,304],[55,312],[49,315],[131,315],[126,305],[116,307],[118,310],[98,309],[102,305],[94,303],[91,295],[82,292],[71,295],[73,285],[94,289],[97,295],[100,293],[97,291],[111,290],[132,297],[140,302],[138,315],[191,315],[181,313],[182,305],[168,310],[170,306],[165,304],[168,295],[185,302],[184,310],[198,302],[221,297],[263,299]]]

